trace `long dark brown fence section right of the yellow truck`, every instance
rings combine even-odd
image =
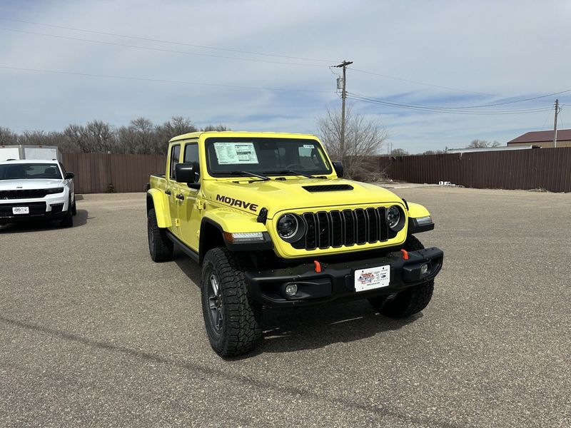
[[[381,156],[378,168],[393,180],[450,183],[471,188],[571,192],[571,147],[427,156]]]

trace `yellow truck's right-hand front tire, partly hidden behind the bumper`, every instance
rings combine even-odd
[[[424,245],[413,235],[408,235],[403,248],[407,251],[422,250]],[[387,317],[405,318],[414,315],[427,307],[433,297],[434,280],[409,287],[398,292],[394,297],[373,297],[369,302],[375,310]]]

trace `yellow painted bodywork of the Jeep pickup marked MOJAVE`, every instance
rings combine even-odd
[[[171,139],[171,146],[181,145],[181,159],[188,143],[198,141],[201,187],[188,192],[184,183],[176,183],[170,175],[170,147],[166,163],[166,176],[151,178],[149,194],[153,198],[157,212],[158,225],[168,228],[193,250],[198,250],[201,220],[204,218],[219,225],[224,232],[268,232],[273,241],[276,254],[281,258],[308,258],[318,255],[334,255],[373,248],[393,247],[404,243],[408,233],[408,217],[418,218],[430,215],[428,210],[416,203],[405,203],[394,193],[380,188],[378,185],[360,183],[338,178],[333,170],[321,178],[300,178],[285,176],[285,180],[264,181],[258,178],[230,177],[219,178],[208,174],[206,168],[205,141],[208,137],[230,136],[249,138],[300,138],[319,140],[308,134],[291,133],[247,133],[247,132],[195,132]],[[324,153],[326,153],[324,151]],[[325,156],[327,156],[325,154]],[[182,160],[181,160],[182,161]],[[330,163],[330,159],[326,158]],[[353,190],[336,190],[328,192],[310,192],[306,185],[350,185]],[[171,195],[165,195],[171,190]],[[182,193],[184,200],[176,202],[175,193]],[[276,222],[284,213],[315,213],[318,211],[343,210],[355,208],[378,208],[399,205],[405,212],[405,227],[390,240],[373,244],[343,246],[316,250],[297,250],[282,240],[276,230]],[[170,207],[170,208],[169,208]],[[176,213],[169,209],[176,207]],[[268,210],[266,224],[258,222],[262,208]],[[172,220],[171,220],[172,219]],[[181,231],[181,228],[184,230]],[[186,230],[185,228],[196,228]]]

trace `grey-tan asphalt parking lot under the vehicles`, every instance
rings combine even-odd
[[[413,320],[367,302],[266,312],[225,361],[198,266],[148,256],[143,194],[0,228],[0,426],[570,427],[571,195],[408,188],[445,252]]]

